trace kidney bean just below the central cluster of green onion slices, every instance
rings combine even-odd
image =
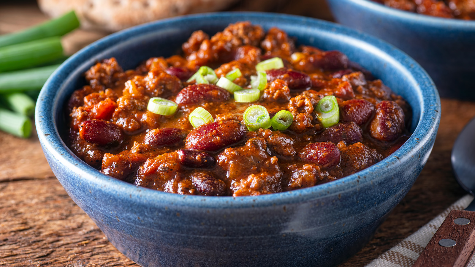
[[[178,104],[197,104],[202,102],[222,102],[231,95],[225,89],[207,84],[190,85],[181,89],[175,102]]]

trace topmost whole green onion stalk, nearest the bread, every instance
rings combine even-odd
[[[77,19],[76,13],[70,11],[59,18],[48,20],[38,26],[0,36],[0,47],[53,36],[62,36],[77,27],[79,27],[79,20]]]

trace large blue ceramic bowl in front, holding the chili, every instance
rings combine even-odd
[[[60,137],[63,107],[96,60],[124,69],[176,53],[194,30],[209,34],[250,20],[279,27],[298,44],[338,49],[412,106],[412,136],[370,168],[311,188],[257,197],[183,196],[136,187],[82,162]],[[209,13],[166,19],[107,36],[66,60],[38,98],[43,151],[67,193],[125,256],[142,266],[334,266],[357,252],[409,191],[440,119],[437,90],[410,57],[333,23],[270,13]]]

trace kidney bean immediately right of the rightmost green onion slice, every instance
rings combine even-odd
[[[351,99],[340,104],[340,119],[343,122],[365,124],[374,112],[374,105],[364,99]]]

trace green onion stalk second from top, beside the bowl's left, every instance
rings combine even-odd
[[[0,48],[0,72],[34,67],[63,57],[61,38],[50,37]]]

